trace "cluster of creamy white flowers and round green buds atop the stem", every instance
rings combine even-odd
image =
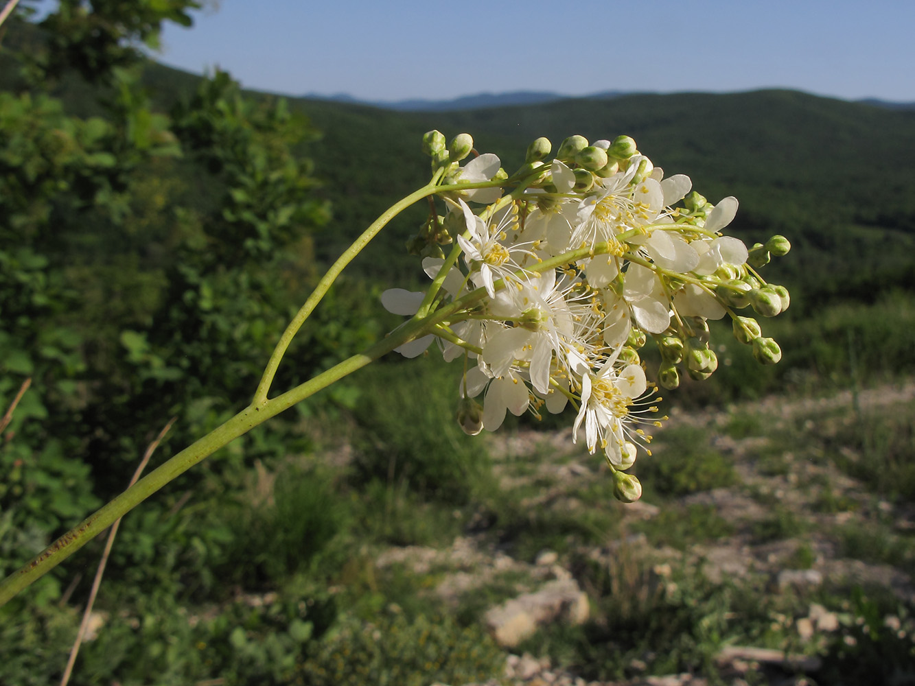
[[[664,419],[640,348],[654,339],[666,389],[682,373],[707,379],[717,367],[707,320],[727,315],[756,359],[779,361],[775,341],[737,310],[775,316],[788,307],[788,291],[756,270],[790,245],[774,236],[748,249],[722,235],[737,199],[712,204],[689,177],[665,177],[629,136],[571,136],[552,160],[540,138],[511,177],[496,155],[461,166],[472,147],[468,134],[447,146],[442,134],[425,134],[446,211],[430,203],[410,243],[429,290],[382,295],[389,311],[428,322],[397,349],[414,357],[437,339],[445,359],[465,360],[458,422],[469,434],[495,431],[508,412],[571,404],[574,439],[604,453],[618,498],[639,498],[625,470],[640,450],[651,454],[649,430]]]

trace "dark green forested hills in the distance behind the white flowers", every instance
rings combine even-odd
[[[747,241],[790,236],[797,250],[776,268],[805,291],[865,297],[864,277],[881,288],[913,285],[915,112],[798,91],[642,94],[453,113],[293,102],[323,132],[312,155],[340,237],[425,179],[419,138],[428,129],[473,134],[479,151],[500,155],[510,173],[537,136],[558,145],[569,134],[624,133],[708,198],[737,196],[734,228]],[[381,239],[392,250],[388,263],[399,264],[394,253],[411,230]]]

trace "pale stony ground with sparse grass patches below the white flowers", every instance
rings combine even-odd
[[[579,583],[571,561],[583,557],[598,562],[612,560],[619,556],[619,546],[647,556],[651,573],[660,584],[673,583],[670,578],[675,568],[701,565],[713,582],[768,579],[772,594],[843,581],[877,584],[904,601],[915,602],[915,580],[907,562],[900,562],[911,560],[906,557],[911,549],[905,548],[915,527],[911,503],[882,498],[849,476],[847,468],[837,466],[842,460],[832,459],[830,453],[845,451],[839,455],[845,463],[862,456],[853,446],[829,440],[884,409],[899,412],[901,408],[905,413],[913,399],[915,383],[908,382],[855,394],[845,391],[797,401],[773,397],[724,410],[674,413],[658,434],[655,455],[649,459],[663,460],[678,449],[664,441],[665,434],[676,434],[678,427],[705,429],[712,436],[710,447],[734,466],[736,478],[731,485],[614,505],[618,508],[613,511],[619,517],[615,530],[619,538],[608,537],[605,544],[590,545],[585,550],[566,547],[556,552],[546,547],[533,555],[519,554],[517,546],[505,544],[504,532],[494,531],[498,524],[488,525],[486,513],[481,513],[478,525],[469,526],[449,546],[391,548],[379,555],[377,565],[403,564],[412,573],[429,574],[435,580],[433,592],[448,606],[458,606],[462,599],[481,593],[496,580],[515,580],[514,595],[493,603],[484,613],[490,633],[509,651],[504,675],[488,682],[491,686],[705,684],[704,679],[689,674],[589,682],[547,657],[516,648],[539,627],[587,621],[589,600],[594,600],[588,595],[592,589]],[[497,434],[491,436],[490,445],[501,488],[522,493],[523,508],[567,515],[597,507],[587,493],[593,493],[599,480],[608,480],[608,474],[599,459],[573,445],[570,431]],[[731,530],[709,540],[672,546],[659,544],[653,540],[651,528],[644,528],[644,522],[657,520],[665,509],[687,511],[690,506],[705,506],[729,522]],[[837,542],[836,534],[853,524],[871,527],[867,531],[885,536],[894,545],[899,543],[903,552],[888,561],[872,559],[873,554],[856,554],[854,539],[843,545]],[[818,603],[810,603],[805,613],[784,620],[796,634],[792,645],[803,648],[835,631],[840,617]],[[815,674],[818,662],[814,652],[728,646],[716,659],[727,683],[801,684],[805,678],[791,674]]]

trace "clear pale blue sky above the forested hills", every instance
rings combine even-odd
[[[161,61],[364,100],[784,87],[915,101],[915,0],[220,0]]]

